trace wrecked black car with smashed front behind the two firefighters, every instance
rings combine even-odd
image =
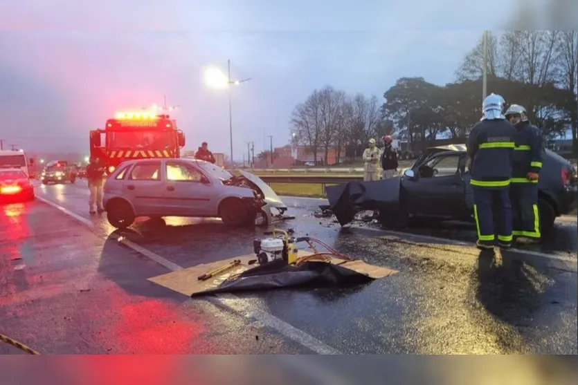
[[[378,209],[382,222],[393,218],[404,224],[413,218],[473,220],[467,162],[465,144],[432,147],[397,178],[327,187],[327,198],[341,225],[350,222],[359,209]],[[552,229],[557,216],[575,209],[577,185],[575,167],[546,150],[538,183],[542,232]]]

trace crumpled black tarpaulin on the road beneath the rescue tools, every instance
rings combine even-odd
[[[307,261],[299,266],[273,261],[254,267],[221,283],[217,288],[195,292],[191,297],[240,291],[271,290],[295,286],[332,287],[372,281],[370,276],[333,263]]]

